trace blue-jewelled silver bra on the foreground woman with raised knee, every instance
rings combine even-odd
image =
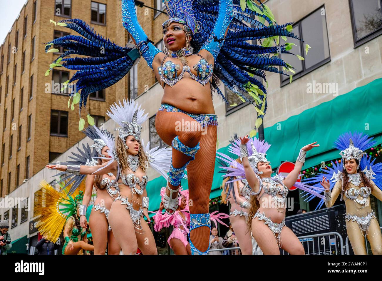
[[[168,60],[163,65],[163,62],[168,57],[168,55],[166,55],[163,58],[160,67],[158,67],[160,79],[164,83],[172,87],[176,82],[180,81],[184,77],[185,72],[188,72],[191,78],[198,81],[203,86],[206,85],[212,77],[213,66],[210,63],[208,63],[207,60],[201,55],[199,54],[195,54],[195,55],[198,55],[199,57],[201,57],[199,62],[193,66],[194,70],[196,70],[197,72],[197,75],[194,75],[194,73],[191,72],[191,68],[188,65],[183,65],[182,71],[178,75],[178,70],[180,70],[180,65],[173,63],[171,60]]]

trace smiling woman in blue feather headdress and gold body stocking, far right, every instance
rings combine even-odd
[[[364,150],[376,145],[368,135],[347,132],[340,135],[334,147],[340,150],[341,164],[332,162],[332,167],[322,170],[304,182],[314,184],[313,188],[324,187],[324,203],[327,208],[334,205],[341,194],[346,206],[346,231],[354,254],[366,255],[365,237],[369,240],[373,255],[382,254],[382,234],[376,213],[370,205],[370,195],[382,201],[382,163],[367,156]],[[331,177],[330,180],[327,177]],[[345,195],[345,197],[343,197]],[[311,200],[314,195],[308,197]]]

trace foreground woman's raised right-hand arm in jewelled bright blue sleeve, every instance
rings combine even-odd
[[[206,42],[202,45],[199,53],[203,55],[203,50],[207,50],[212,54],[214,60],[220,52],[220,48],[224,44],[225,36],[228,32],[228,27],[233,18],[233,3],[232,0],[219,1],[219,15],[216,19],[214,29]]]

